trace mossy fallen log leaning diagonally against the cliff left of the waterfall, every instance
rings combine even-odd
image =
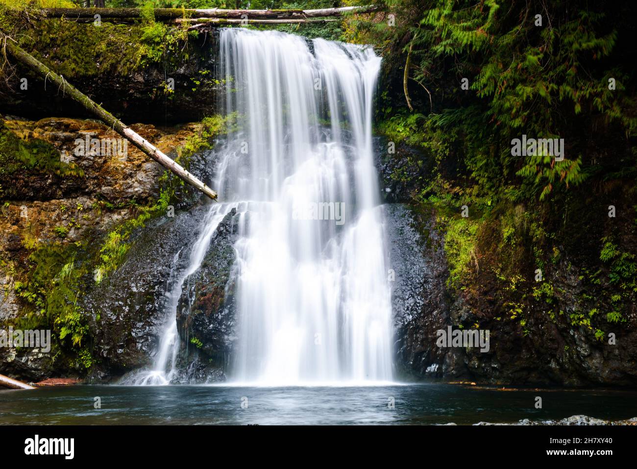
[[[52,82],[54,82],[58,86],[57,89],[62,90],[64,94],[68,94],[75,101],[80,103],[83,108],[85,108],[90,113],[93,113],[94,115],[99,117],[99,119],[103,120],[103,122],[108,124],[108,126],[113,128],[115,132],[131,140],[133,145],[138,147],[142,152],[164,166],[164,168],[182,178],[182,180],[192,185],[193,187],[196,187],[196,189],[199,189],[199,191],[203,192],[211,199],[217,199],[217,192],[210,189],[210,187],[203,184],[203,182],[201,182],[188,171],[183,169],[180,164],[170,159],[163,152],[161,152],[161,150],[152,145],[152,143],[145,140],[145,138],[143,138],[140,134],[133,131],[130,127],[125,126],[121,120],[117,119],[117,117],[112,115],[110,112],[104,110],[102,106],[92,101],[92,99],[80,92],[80,90],[76,89],[73,85],[71,85],[71,83],[64,80],[63,76],[57,75],[57,73],[49,69],[45,64],[39,62],[38,59],[33,57],[31,54],[28,54],[27,52],[22,50],[22,48],[15,44],[15,41],[13,41],[9,36],[6,36],[6,34],[1,31],[0,40],[2,41],[2,48],[5,51],[5,55],[6,51],[8,51],[11,55],[13,55],[13,57],[15,57],[15,59],[25,64],[25,66],[29,67],[34,72],[43,76],[43,78],[45,78],[45,81],[51,80]]]

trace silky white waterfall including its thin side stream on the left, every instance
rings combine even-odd
[[[168,302],[154,370],[167,384],[175,312],[219,222],[238,212],[238,343],[231,379],[259,385],[392,379],[391,305],[371,119],[371,48],[273,31],[222,29],[225,113],[236,115],[189,267]]]

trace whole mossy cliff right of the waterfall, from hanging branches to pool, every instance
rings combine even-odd
[[[634,384],[631,4],[386,4],[394,25],[357,30],[385,57],[382,184],[425,237],[441,233],[447,259],[447,315],[432,326],[423,311],[410,326],[429,334],[408,368]],[[517,154],[526,137],[557,138],[562,155]],[[490,352],[441,350],[433,333],[446,326],[490,329]]]

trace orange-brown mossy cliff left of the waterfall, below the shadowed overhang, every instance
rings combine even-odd
[[[223,122],[206,119],[203,124],[162,129],[148,124],[132,128],[198,172],[192,154],[222,133]],[[192,206],[198,197],[134,147],[124,157],[76,155],[78,141],[116,136],[91,120],[0,121],[0,319],[5,328],[52,329],[54,338],[50,354],[1,349],[0,373],[29,380],[85,376],[132,363],[138,366],[148,359],[136,352],[140,342],[125,327],[127,322],[114,317],[108,321],[113,311],[91,308],[87,300],[103,282],[111,282],[122,264],[142,252],[138,238],[145,228],[180,219],[183,207]],[[157,256],[157,263],[166,263]],[[154,267],[154,259],[147,265]],[[140,269],[130,275],[163,285],[166,273],[144,274]],[[128,287],[119,288],[134,299],[134,281],[129,277],[128,282]],[[140,321],[152,328],[154,316],[146,312]],[[114,343],[124,347],[103,351]]]

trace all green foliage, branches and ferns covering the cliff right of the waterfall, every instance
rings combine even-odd
[[[383,4],[347,31],[383,55],[379,130],[433,168],[411,195],[445,231],[450,286],[496,320],[524,329],[545,311],[599,340],[634,311],[637,282],[633,4]],[[524,135],[564,139],[563,159],[513,152]],[[566,271],[581,296],[561,288]]]

